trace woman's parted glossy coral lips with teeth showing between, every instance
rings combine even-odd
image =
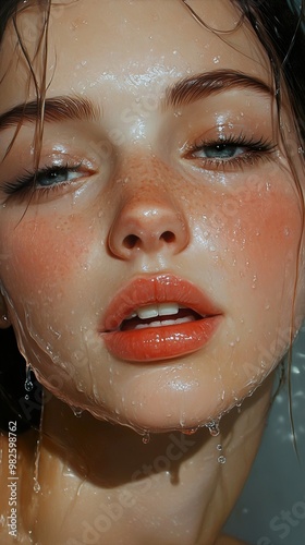
[[[99,331],[115,358],[154,362],[199,350],[220,320],[220,310],[193,283],[160,275],[136,278],[120,290]]]

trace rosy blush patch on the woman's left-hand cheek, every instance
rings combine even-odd
[[[24,219],[11,238],[13,267],[32,288],[69,281],[88,247],[89,230],[77,218]]]

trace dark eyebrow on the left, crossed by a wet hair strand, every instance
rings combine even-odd
[[[100,117],[98,106],[94,105],[88,98],[66,95],[46,98],[42,111],[37,100],[14,106],[0,116],[0,131],[26,122],[34,123],[40,119],[41,113],[44,121],[47,122],[66,120],[95,121]]]

